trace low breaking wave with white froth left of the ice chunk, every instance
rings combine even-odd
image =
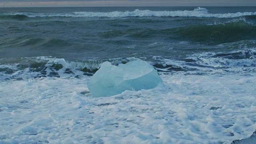
[[[64,58],[38,56],[29,58],[0,59],[0,80],[23,80],[41,77],[92,76],[100,65],[109,61],[113,65],[125,64],[136,58],[67,61]]]

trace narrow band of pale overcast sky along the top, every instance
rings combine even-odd
[[[256,6],[256,2],[186,2],[167,0],[58,1],[58,2],[0,2],[0,8],[32,7],[118,7],[118,6]]]

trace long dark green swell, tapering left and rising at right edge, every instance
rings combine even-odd
[[[256,26],[244,19],[235,19],[225,23],[194,25],[178,28],[152,29],[131,28],[125,30],[111,30],[99,33],[103,38],[130,37],[143,38],[171,38],[205,45],[217,45],[240,40],[254,40]]]

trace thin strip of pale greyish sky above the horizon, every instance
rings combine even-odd
[[[256,6],[256,0],[0,0],[0,7]]]

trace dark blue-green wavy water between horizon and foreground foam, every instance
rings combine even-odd
[[[136,58],[161,74],[256,72],[256,7],[0,9],[2,80]]]

